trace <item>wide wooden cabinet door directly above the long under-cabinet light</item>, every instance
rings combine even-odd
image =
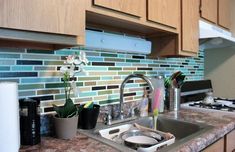
[[[143,2],[144,0],[93,0],[93,5],[141,17],[144,11]]]

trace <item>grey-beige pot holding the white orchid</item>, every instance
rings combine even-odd
[[[77,134],[78,116],[72,118],[54,117],[55,134],[60,139],[71,139]]]

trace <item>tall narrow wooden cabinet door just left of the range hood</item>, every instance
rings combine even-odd
[[[199,0],[182,0],[182,55],[197,54],[199,49]]]

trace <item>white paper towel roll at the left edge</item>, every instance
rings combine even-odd
[[[18,152],[20,148],[18,85],[0,82],[0,152]]]

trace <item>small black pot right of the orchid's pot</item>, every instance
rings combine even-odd
[[[96,126],[99,116],[100,106],[94,105],[93,108],[83,108],[79,114],[78,128],[93,129]]]

